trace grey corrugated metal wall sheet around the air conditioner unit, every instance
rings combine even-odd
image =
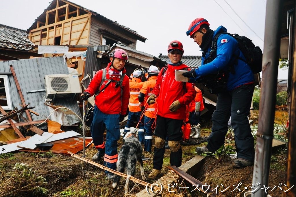
[[[49,116],[49,110],[48,106],[44,105],[46,92],[40,91],[27,93],[27,91],[45,89],[44,76],[46,74],[68,74],[69,71],[64,58],[59,56],[50,58],[3,61],[0,62],[0,73],[11,72],[9,65],[12,65],[15,70],[15,74],[20,84],[25,103],[30,103],[29,107],[36,107],[32,110],[39,114],[39,116],[37,116],[31,113],[32,119],[36,121],[47,118]],[[8,75],[8,80],[12,106],[13,108],[20,109],[22,102],[18,95],[15,81],[11,74]],[[54,105],[67,107],[81,117],[76,100],[70,100],[67,98],[56,99]],[[25,116],[25,113],[22,115]],[[69,121],[70,125],[81,122],[75,115],[67,115],[67,120]]]

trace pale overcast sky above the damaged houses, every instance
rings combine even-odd
[[[186,35],[195,18],[208,20],[210,28],[220,25],[230,33],[244,35],[263,50],[266,0],[70,0],[86,9],[117,21],[147,38],[136,49],[159,56],[167,54],[170,41],[180,40],[184,55],[201,55],[199,46]],[[1,1],[0,24],[27,30],[49,6],[49,0]],[[279,79],[287,78],[280,71]]]

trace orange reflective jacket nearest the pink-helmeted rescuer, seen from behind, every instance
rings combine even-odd
[[[128,102],[128,109],[130,112],[139,112],[141,111],[140,104],[139,104],[139,94],[140,89],[142,88],[144,82],[141,79],[133,78],[130,79],[130,98]]]

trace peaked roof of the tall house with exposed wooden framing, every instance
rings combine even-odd
[[[120,24],[118,24],[117,21],[112,21],[112,20],[102,16],[101,14],[99,14],[99,13],[93,11],[93,10],[86,9],[86,8],[84,8],[84,7],[82,7],[82,6],[78,5],[78,4],[72,3],[71,1],[66,1],[66,0],[59,0],[59,1],[63,1],[66,4],[70,4],[72,6],[76,6],[76,7],[80,8],[80,9],[83,9],[84,11],[91,13],[94,17],[96,17],[96,18],[98,18],[100,20],[104,20],[104,21],[106,21],[106,22],[108,22],[111,25],[114,25],[116,27],[119,27],[123,31],[131,33],[132,35],[134,35],[136,37],[137,40],[140,40],[141,42],[145,42],[147,40],[147,38],[144,38],[143,36],[139,35],[135,30],[132,30],[132,29],[130,29],[130,28],[124,26],[124,25],[120,25]],[[49,6],[44,10],[44,12],[35,20],[35,22],[31,25],[31,27],[28,28],[27,32],[29,30],[35,29],[37,27],[37,21],[40,20],[40,19],[45,19],[46,18],[46,11],[56,8],[56,5],[57,5],[56,0],[53,0],[52,2],[50,2]]]

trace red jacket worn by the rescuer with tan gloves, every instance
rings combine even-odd
[[[184,120],[186,105],[194,99],[196,91],[192,83],[186,82],[186,86],[184,87],[183,82],[177,82],[175,80],[175,70],[182,70],[184,68],[190,69],[186,64],[181,64],[179,66],[168,64],[168,68],[163,74],[163,68],[160,70],[155,87],[152,90],[152,94],[157,96],[158,115],[164,118]],[[176,100],[179,100],[181,103],[181,108],[175,112],[171,112],[169,110],[170,105]]]

